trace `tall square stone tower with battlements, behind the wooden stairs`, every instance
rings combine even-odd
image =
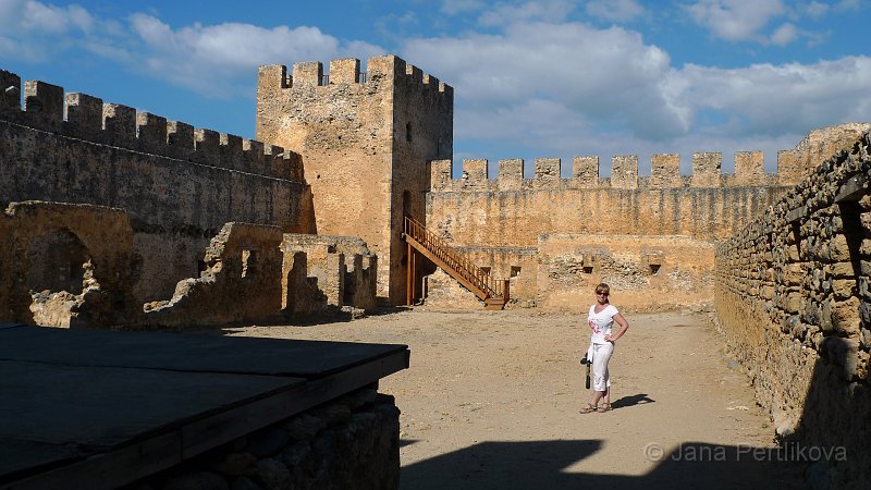
[[[395,56],[260,66],[257,139],[303,157],[317,233],[360,236],[378,294],[405,302],[403,216],[426,218],[430,160],[453,156],[453,88]]]

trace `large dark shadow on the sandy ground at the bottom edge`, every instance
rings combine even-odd
[[[481,442],[402,468],[403,489],[805,489],[806,463],[768,448],[687,442],[668,454],[639,444],[660,463],[647,475],[567,473],[599,440]],[[617,463],[618,464],[618,463]]]

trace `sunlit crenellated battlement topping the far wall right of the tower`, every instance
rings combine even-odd
[[[680,174],[680,156],[657,154],[651,157],[650,175],[639,175],[638,156],[617,155],[611,158],[611,175],[602,176],[599,157],[574,157],[572,176],[561,177],[560,158],[536,158],[533,176],[524,179],[526,163],[523,159],[499,160],[495,179],[488,179],[490,162],[486,159],[463,161],[463,172],[453,179],[451,160],[430,162],[431,191],[433,192],[512,192],[526,189],[635,189],[635,188],[716,188],[716,187],[771,187],[795,184],[800,177],[797,150],[777,155],[777,173],[765,173],[762,151],[735,154],[735,172],[722,172],[720,152],[692,154],[692,173]]]

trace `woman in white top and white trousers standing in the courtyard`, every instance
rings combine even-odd
[[[596,304],[590,306],[587,324],[590,327],[590,347],[587,350],[587,359],[592,363],[592,402],[580,409],[581,414],[591,412],[604,413],[611,409],[611,378],[608,373],[608,362],[614,352],[614,341],[626,333],[629,322],[623,318],[617,308],[608,302],[611,287],[601,283],[596,286]],[[619,330],[613,333],[614,323]],[[599,402],[602,402],[599,405]]]

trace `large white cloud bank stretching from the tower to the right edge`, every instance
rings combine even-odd
[[[781,29],[784,39],[792,28]],[[510,144],[563,158],[724,151],[726,168],[731,152],[761,149],[771,170],[776,150],[794,147],[810,130],[871,114],[869,57],[675,68],[638,33],[580,23],[412,39],[401,52],[455,87],[458,148],[504,151]]]

